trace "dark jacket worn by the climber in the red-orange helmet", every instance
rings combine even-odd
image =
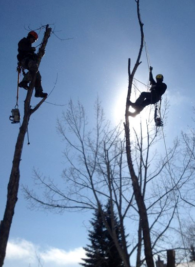
[[[24,37],[21,41],[19,41],[17,51],[17,60],[19,62],[21,62],[25,58],[34,60],[36,59],[36,54],[33,51],[30,39],[28,37]]]

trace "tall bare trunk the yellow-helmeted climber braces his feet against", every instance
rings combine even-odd
[[[129,172],[131,175],[135,201],[136,201],[136,204],[138,205],[138,209],[139,209],[139,215],[140,215],[142,231],[143,231],[144,251],[145,251],[145,257],[146,257],[146,263],[147,263],[148,267],[154,267],[147,210],[146,210],[146,206],[145,206],[145,202],[144,202],[144,197],[143,197],[142,192],[141,192],[141,187],[139,185],[139,180],[138,180],[138,177],[135,175],[135,171],[134,171],[133,163],[132,163],[132,158],[131,158],[130,128],[129,128],[129,117],[128,117],[128,110],[129,110],[128,100],[130,99],[130,96],[131,96],[132,81],[133,81],[133,77],[134,77],[136,69],[141,64],[140,58],[141,58],[143,45],[144,45],[143,23],[141,21],[140,7],[139,7],[140,1],[135,0],[135,2],[137,3],[138,20],[139,20],[140,30],[141,30],[141,45],[140,45],[140,51],[138,54],[138,58],[136,60],[136,63],[135,63],[134,68],[132,70],[132,73],[130,72],[130,59],[129,59],[129,63],[128,63],[129,86],[128,86],[128,93],[127,93],[127,103],[126,103],[124,127],[125,127],[125,136],[126,136],[127,162],[128,162]]]

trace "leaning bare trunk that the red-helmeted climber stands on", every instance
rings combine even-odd
[[[48,38],[50,36],[51,28],[48,28],[49,25],[46,26],[46,32],[44,35],[44,40],[42,42],[42,45],[40,47],[40,50],[37,53],[37,64],[38,66],[41,63],[43,51],[45,50],[45,47],[47,45]],[[27,97],[24,104],[24,118],[22,126],[19,129],[17,142],[15,146],[15,152],[13,157],[13,164],[12,164],[12,170],[11,175],[8,183],[8,194],[7,194],[7,203],[4,213],[4,218],[1,221],[0,226],[0,267],[4,264],[4,259],[6,255],[6,247],[7,242],[9,238],[11,223],[14,215],[14,208],[15,204],[17,202],[17,193],[18,193],[18,187],[19,187],[19,163],[21,162],[21,155],[23,150],[23,144],[25,139],[25,134],[27,131],[30,115],[38,109],[38,107],[41,106],[41,104],[45,101],[46,98],[42,99],[40,103],[36,105],[34,109],[30,108],[30,100],[32,97],[32,91],[34,88],[35,83],[35,77],[33,78],[32,82],[30,83],[30,88],[27,92]]]

